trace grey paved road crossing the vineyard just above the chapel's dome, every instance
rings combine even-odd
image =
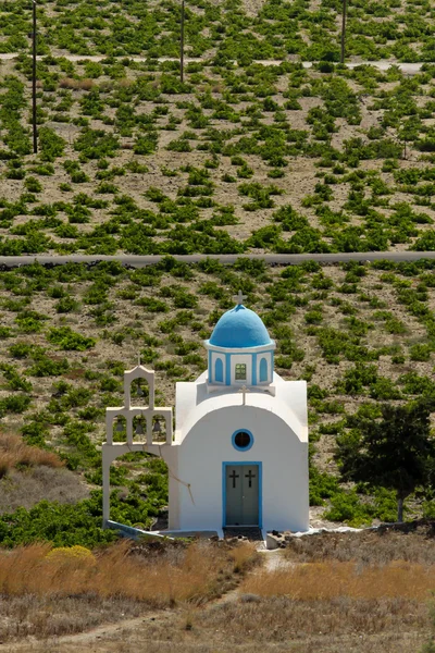
[[[39,262],[42,266],[62,266],[65,263],[97,263],[98,261],[119,261],[133,268],[146,268],[161,261],[163,256],[130,256],[130,255],[71,255],[71,256],[1,256],[1,268],[20,268]],[[363,251],[344,254],[192,254],[175,255],[177,261],[198,263],[207,258],[217,260],[220,263],[232,266],[239,258],[251,261],[264,261],[275,266],[295,266],[306,261],[319,263],[343,263],[348,261],[370,262],[388,260],[395,262],[418,261],[419,259],[435,259],[435,251]]]

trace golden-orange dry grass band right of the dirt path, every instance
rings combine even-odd
[[[307,563],[252,575],[241,590],[258,596],[289,596],[296,601],[340,597],[424,601],[435,590],[435,565],[405,560],[365,567],[357,563]]]

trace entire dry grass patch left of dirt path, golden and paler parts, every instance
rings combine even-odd
[[[95,554],[48,544],[0,551],[0,649],[4,641],[83,632],[149,608],[185,602],[195,609],[234,588],[235,575],[257,555],[250,544],[208,542],[123,541]]]

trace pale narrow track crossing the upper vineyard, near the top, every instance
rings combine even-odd
[[[23,52],[22,52],[23,53]],[[16,59],[21,53],[20,52],[2,52],[0,53],[0,61],[9,61],[12,59]],[[103,61],[107,59],[105,54],[59,54],[59,57],[63,57],[69,61],[77,62],[77,61]],[[38,61],[45,59],[45,57],[37,57]],[[145,61],[150,61],[149,57],[115,57],[114,59],[129,59],[136,63],[141,63]],[[158,61],[178,61],[176,57],[159,57]],[[202,61],[201,58],[189,58],[185,57],[185,63]],[[234,62],[236,63],[236,62]],[[282,60],[276,59],[259,59],[256,60],[254,63],[260,63],[262,65],[279,65],[283,63]],[[311,69],[314,65],[312,61],[302,61],[302,66],[304,69]],[[380,71],[387,71],[393,65],[397,65],[403,73],[408,75],[415,75],[419,73],[424,65],[423,63],[398,63],[396,61],[347,61],[345,65],[349,69],[355,69],[358,65],[372,65]]]

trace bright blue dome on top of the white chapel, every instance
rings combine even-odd
[[[243,349],[272,345],[273,341],[261,318],[240,304],[221,317],[209,344],[215,347]]]

